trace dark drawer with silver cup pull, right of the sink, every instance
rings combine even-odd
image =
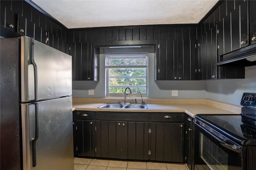
[[[152,122],[184,122],[183,113],[151,113]]]

